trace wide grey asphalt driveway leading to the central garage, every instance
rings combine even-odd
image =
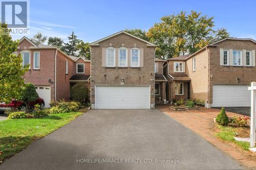
[[[157,163],[156,159],[165,162]],[[95,161],[109,163],[93,163]],[[33,142],[0,169],[243,167],[159,110],[90,110],[69,125]]]

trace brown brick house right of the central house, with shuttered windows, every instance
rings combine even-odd
[[[225,38],[190,56],[167,59],[167,100],[200,99],[207,107],[250,106],[255,50],[253,39]]]

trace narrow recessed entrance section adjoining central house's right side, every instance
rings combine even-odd
[[[166,104],[166,82],[163,75],[163,62],[165,60],[155,59],[155,104]]]

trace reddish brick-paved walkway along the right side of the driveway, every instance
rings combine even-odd
[[[225,153],[231,155],[233,158],[241,161],[246,166],[256,169],[256,162],[249,160],[246,156],[241,155],[241,152],[234,150],[229,145],[223,143],[220,139],[212,135],[211,128],[214,125],[214,117],[216,117],[220,110],[218,109],[208,109],[201,107],[200,110],[185,110],[185,111],[174,111],[168,108],[168,106],[158,106],[157,109],[161,110],[163,113],[174,118],[180,122],[183,126],[195,131],[197,134],[204,137],[207,141],[214,144],[219,149],[223,150]],[[241,116],[237,113],[227,112],[229,117]]]

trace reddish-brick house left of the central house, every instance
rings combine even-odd
[[[35,85],[46,107],[51,101],[69,100],[74,83],[89,82],[90,60],[68,56],[54,46],[37,44],[27,37],[20,39],[16,53],[22,54],[23,64],[30,64],[25,82]]]

